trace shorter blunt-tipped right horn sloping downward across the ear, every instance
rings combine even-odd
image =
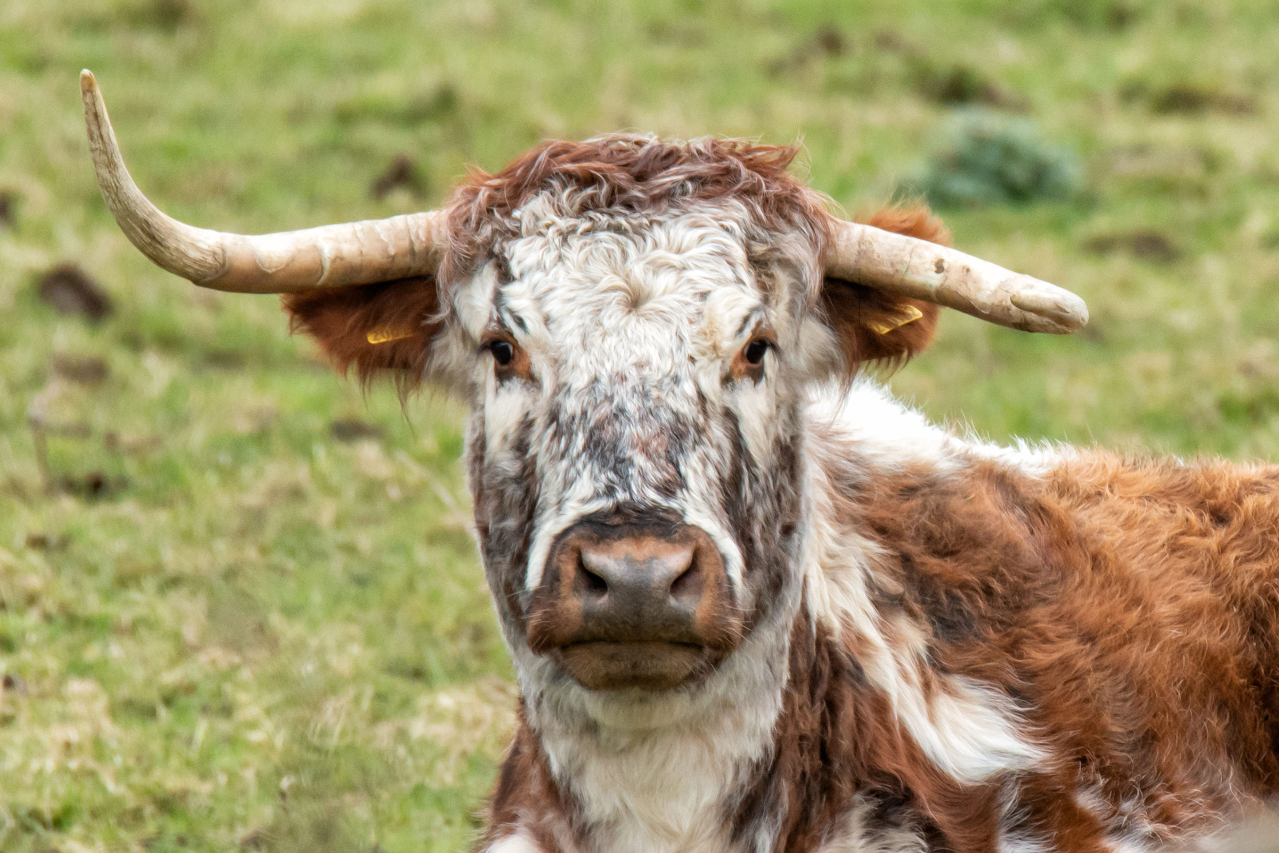
[[[1067,335],[1088,322],[1083,299],[1055,284],[871,225],[840,220],[826,247],[825,266],[826,275],[836,279],[1023,331]]]

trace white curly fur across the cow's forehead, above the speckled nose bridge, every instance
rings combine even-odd
[[[779,341],[799,331],[821,279],[815,235],[765,233],[730,200],[628,216],[574,212],[565,196],[546,192],[515,211],[517,235],[495,249],[509,281],[499,283],[490,263],[455,297],[472,339],[503,322],[531,354],[554,362],[544,366],[569,370],[555,382],[572,384],[619,366],[624,375],[673,373],[677,359],[732,357],[756,320]],[[761,280],[761,261],[781,258],[790,275]]]

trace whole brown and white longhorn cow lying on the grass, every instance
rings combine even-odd
[[[998,446],[859,370],[939,307],[1068,333],[1078,297],[715,138],[547,142],[439,211],[210,231],[82,92],[156,263],[469,403],[521,692],[477,849],[1138,853],[1279,789],[1279,469]]]

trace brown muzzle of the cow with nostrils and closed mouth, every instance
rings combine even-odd
[[[592,689],[669,689],[741,642],[714,540],[689,524],[583,522],[561,533],[528,611],[528,643]]]

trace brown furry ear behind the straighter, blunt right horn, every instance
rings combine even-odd
[[[950,233],[925,206],[890,207],[865,221],[885,231],[950,244]],[[854,281],[828,278],[821,302],[849,371],[862,362],[902,364],[925,350],[938,329],[938,306]]]

